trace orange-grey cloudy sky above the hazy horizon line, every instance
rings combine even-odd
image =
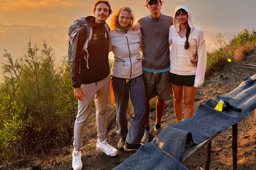
[[[35,26],[69,26],[77,18],[92,15],[89,0],[0,0],[0,23]],[[145,0],[109,0],[112,10],[128,6],[138,18],[149,15]],[[173,16],[178,4],[186,5],[194,24],[204,30],[207,48],[218,33],[231,39],[243,28],[256,26],[255,0],[165,0],[161,12]],[[111,17],[111,16],[110,16]],[[107,20],[109,24],[110,19]],[[248,25],[248,26],[247,26]],[[0,37],[1,38],[1,37]]]

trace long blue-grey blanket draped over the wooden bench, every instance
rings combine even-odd
[[[231,106],[241,108],[242,113],[232,110],[223,110],[222,112],[215,110],[215,106],[221,99],[228,101]],[[184,169],[185,166],[182,166],[181,161],[186,141],[192,140],[196,144],[201,143],[218,131],[223,131],[240,122],[255,108],[256,75],[246,77],[232,92],[218,96],[215,100],[210,99],[205,105],[200,104],[194,116],[178,124],[168,126],[150,142],[150,145],[152,146],[153,144],[160,148],[157,152],[158,156],[165,155],[165,159],[169,159],[172,162],[171,164],[175,164],[173,166],[180,166],[178,169]],[[172,169],[167,164],[158,165],[161,162],[157,161],[158,159],[154,159],[155,155],[152,154],[152,148],[149,147],[149,144],[144,144],[136,154],[114,169],[130,169],[128,166],[131,164],[133,165],[132,169],[153,169],[152,166],[158,169]],[[154,147],[154,149],[156,148]],[[143,154],[141,150],[143,150]],[[179,161],[174,161],[173,158]],[[150,161],[150,163],[146,163],[145,160]],[[144,163],[141,163],[142,161]]]

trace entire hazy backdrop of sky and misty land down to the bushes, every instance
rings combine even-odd
[[[42,39],[52,45],[56,58],[67,55],[68,26],[77,18],[93,15],[95,1],[89,0],[0,0],[0,55],[4,47],[15,58],[24,55],[27,42],[40,46]],[[109,0],[113,12],[120,6],[130,7],[138,19],[148,16],[145,0]],[[178,4],[188,7],[194,25],[203,29],[206,47],[211,51],[216,35],[221,33],[228,42],[244,29],[256,26],[255,0],[165,0],[161,12],[174,16]],[[112,15],[107,19],[110,24]]]

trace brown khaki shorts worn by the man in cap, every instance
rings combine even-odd
[[[171,100],[172,87],[169,82],[169,71],[163,73],[151,73],[143,71],[146,84],[146,98],[150,100],[158,96],[160,100]]]

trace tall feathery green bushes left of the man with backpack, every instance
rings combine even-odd
[[[10,159],[14,150],[16,153],[39,153],[43,156],[46,152],[72,146],[78,101],[74,96],[71,68],[66,57],[63,57],[60,64],[56,64],[53,47],[48,46],[44,40],[41,47],[32,45],[29,40],[23,57],[14,59],[7,49],[4,49],[4,58],[6,62],[3,62],[2,69],[5,76],[0,88],[8,97],[1,99],[1,142],[5,143],[1,148],[5,149],[3,160]],[[16,101],[12,103],[15,105],[14,110],[19,108],[17,103],[23,103],[20,107],[25,108],[21,110],[24,113],[15,111],[17,114],[9,114],[12,110],[5,112],[6,108],[10,110],[10,107],[13,107],[12,104],[8,105],[10,101]],[[95,112],[94,105],[85,130],[91,134],[87,138],[96,137]],[[14,115],[14,118],[11,115]],[[113,128],[115,119],[116,107],[109,104],[107,131]],[[33,120],[29,122],[29,126],[28,120]],[[26,134],[26,137],[22,137],[23,134]],[[22,144],[22,148],[14,147],[18,145],[17,140]]]

